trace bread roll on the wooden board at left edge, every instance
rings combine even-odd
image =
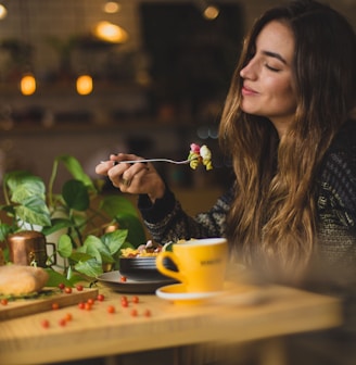
[[[49,276],[41,267],[9,264],[0,266],[0,294],[23,295],[40,291]]]

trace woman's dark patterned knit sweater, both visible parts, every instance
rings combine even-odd
[[[329,148],[317,176],[317,191],[318,259],[356,268],[356,121],[346,123]],[[168,188],[154,204],[140,196],[138,207],[157,242],[224,237],[233,194],[230,188],[208,212],[195,217],[185,213]]]

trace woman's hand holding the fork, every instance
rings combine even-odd
[[[110,160],[100,163],[96,173],[110,178],[113,186],[123,192],[145,193],[151,201],[162,198],[165,184],[151,163],[119,163],[120,161],[142,160],[135,154],[111,154]],[[116,164],[115,164],[116,163]]]

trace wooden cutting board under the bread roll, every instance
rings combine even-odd
[[[58,288],[44,288],[48,297],[34,299],[18,299],[9,301],[7,305],[0,304],[0,320],[12,319],[29,314],[52,311],[52,304],[58,303],[59,307],[76,305],[79,302],[98,297],[98,289],[82,289],[77,291],[73,288],[72,293],[60,292]]]

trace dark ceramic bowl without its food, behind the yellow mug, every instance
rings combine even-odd
[[[173,278],[161,274],[155,264],[155,256],[119,257],[119,273],[128,279],[137,281],[175,281]],[[166,259],[164,265],[177,270],[176,265]]]

